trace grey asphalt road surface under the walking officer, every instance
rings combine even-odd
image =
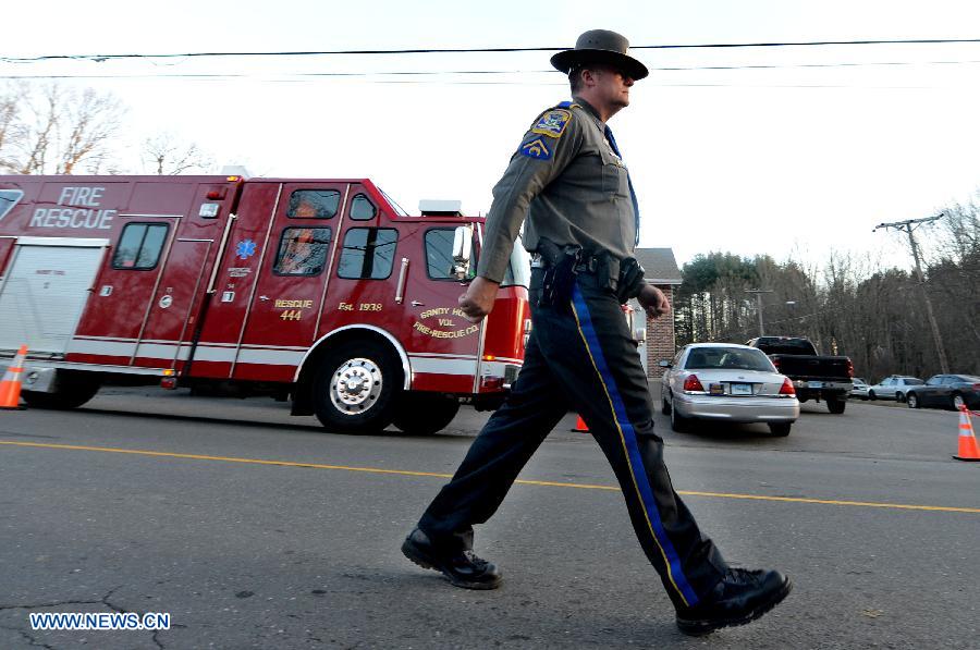
[[[788,438],[658,415],[706,532],[795,585],[703,639],[675,629],[573,417],[478,528],[505,582],[475,592],[399,545],[486,414],[367,438],[183,391],[0,412],[0,648],[980,648],[980,464],[950,457],[956,414],[803,410]],[[166,612],[171,629],[35,631],[32,612]]]

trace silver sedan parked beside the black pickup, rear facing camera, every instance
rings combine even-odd
[[[681,348],[661,380],[663,413],[674,431],[694,420],[765,422],[788,436],[799,417],[796,389],[765,354],[734,343],[693,343]]]

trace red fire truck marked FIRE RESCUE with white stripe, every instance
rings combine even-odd
[[[519,245],[489,318],[456,306],[482,222],[408,216],[367,179],[0,176],[0,356],[28,345],[30,406],[142,376],[438,431],[500,403],[530,329]]]

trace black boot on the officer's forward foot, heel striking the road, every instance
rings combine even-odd
[[[792,588],[789,578],[777,571],[730,568],[698,604],[677,610],[677,627],[697,636],[751,623],[782,602]]]

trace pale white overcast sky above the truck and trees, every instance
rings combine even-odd
[[[4,29],[0,57],[567,48],[586,29],[620,32],[651,69],[610,121],[640,246],[679,265],[728,252],[820,266],[833,252],[909,268],[904,236],[873,226],[980,188],[980,42],[642,47],[980,38],[969,0],[93,0],[5,15],[23,27]],[[567,99],[551,54],[0,61],[0,76],[113,93],[131,132],[173,133],[254,175],[367,176],[412,213],[438,198],[476,214],[530,122]],[[928,252],[930,231],[917,234]]]

